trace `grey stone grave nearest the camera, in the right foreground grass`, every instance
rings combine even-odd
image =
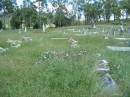
[[[99,75],[98,84],[102,88],[102,91],[108,93],[118,93],[119,87],[115,80],[112,78],[109,68],[109,62],[107,60],[98,60],[96,62],[96,72]]]

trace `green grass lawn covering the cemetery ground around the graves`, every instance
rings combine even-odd
[[[110,25],[98,27],[109,29]],[[33,38],[31,43],[23,42],[21,48],[10,48],[7,53],[0,54],[0,97],[129,97],[130,52],[112,52],[106,48],[107,45],[127,46],[127,43],[121,44],[113,36],[105,40],[100,30],[96,35],[75,36],[74,32],[67,30],[69,28],[78,30],[86,26],[50,29],[47,33],[35,30],[22,34],[17,30],[0,33],[0,47],[9,47],[7,39],[22,40],[23,36]],[[63,32],[68,34],[64,35]],[[71,48],[68,40],[51,40],[52,37],[71,36],[78,40],[80,48]],[[48,50],[86,50],[87,54],[49,58],[36,64],[41,54]],[[102,56],[97,57],[98,53]],[[99,59],[108,60],[110,74],[119,86],[118,91],[107,93],[97,84],[99,75],[95,72],[95,64]]]

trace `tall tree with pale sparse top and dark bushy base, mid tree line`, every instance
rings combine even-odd
[[[71,17],[69,17],[69,11],[67,9],[69,0],[50,0],[50,2],[54,7],[53,15],[56,26],[61,27],[70,24]]]

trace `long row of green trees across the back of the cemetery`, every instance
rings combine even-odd
[[[53,7],[48,8],[48,3]],[[37,6],[36,6],[37,4]],[[67,7],[72,5],[70,11]],[[10,24],[14,29],[22,25],[32,28],[41,28],[42,24],[53,23],[57,27],[75,25],[81,16],[85,17],[85,24],[94,22],[120,21],[125,15],[130,15],[130,0],[23,0],[23,5],[17,6],[16,0],[1,0],[0,17],[11,16]],[[4,22],[0,20],[0,28]]]

